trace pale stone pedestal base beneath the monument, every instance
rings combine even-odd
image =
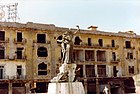
[[[49,83],[48,94],[85,94],[82,82]]]

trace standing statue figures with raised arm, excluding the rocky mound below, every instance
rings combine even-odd
[[[73,36],[79,31],[79,26],[77,25],[78,29],[75,32],[71,30],[66,31],[62,35],[62,40],[57,40],[61,42],[62,47],[62,62],[63,63],[73,63]]]

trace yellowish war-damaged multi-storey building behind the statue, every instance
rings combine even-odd
[[[105,86],[111,94],[134,93],[132,76],[140,71],[140,36],[133,31],[89,28],[73,38],[76,79],[83,83],[86,94],[103,94]],[[1,22],[0,92],[46,93],[61,66],[57,39],[67,30],[53,24]]]

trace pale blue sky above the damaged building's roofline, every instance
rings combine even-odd
[[[10,3],[18,3],[20,23],[81,29],[93,25],[106,32],[140,34],[140,0],[0,0]]]

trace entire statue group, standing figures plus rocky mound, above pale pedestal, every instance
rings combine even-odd
[[[57,40],[61,42],[61,49],[62,49],[62,65],[59,68],[59,73],[56,77],[54,77],[51,82],[73,82],[75,78],[75,70],[76,64],[73,63],[73,37],[79,31],[78,29],[75,32],[71,30],[66,31],[62,35],[62,40]]]

